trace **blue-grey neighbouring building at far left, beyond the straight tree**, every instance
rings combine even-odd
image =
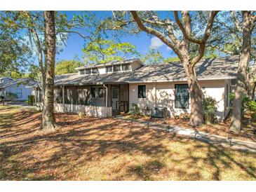
[[[32,86],[35,84],[36,81],[28,78],[0,77],[0,96],[6,97],[8,92],[12,92],[17,95],[16,101],[25,101],[28,95],[32,95]],[[6,97],[6,100],[8,100],[8,97]]]

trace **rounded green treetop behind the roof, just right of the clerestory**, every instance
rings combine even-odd
[[[150,64],[162,64],[163,63],[163,55],[159,50],[156,49],[150,49],[148,53],[145,55],[142,55],[140,60],[144,64],[150,65]]]

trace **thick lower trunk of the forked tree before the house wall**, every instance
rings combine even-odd
[[[191,101],[191,114],[190,124],[193,127],[200,126],[203,124],[203,101],[201,87],[196,78],[196,72],[189,66],[184,65],[185,71],[187,71],[187,83],[189,85],[189,96]],[[187,69],[186,69],[187,68]]]

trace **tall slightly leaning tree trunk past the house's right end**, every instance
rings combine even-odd
[[[241,132],[242,96],[245,94],[245,83],[247,81],[247,67],[250,59],[250,46],[253,22],[250,11],[243,11],[243,46],[238,64],[237,84],[235,97],[232,105],[232,117],[230,131]]]

